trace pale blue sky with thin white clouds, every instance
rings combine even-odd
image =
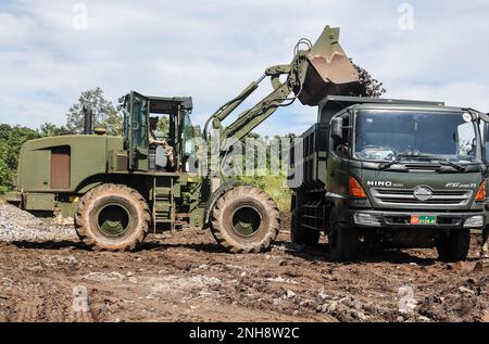
[[[114,104],[130,90],[190,95],[203,124],[326,25],[385,98],[489,112],[486,0],[0,0],[0,123],[64,124],[79,93],[100,87]],[[263,82],[244,106],[271,90]],[[298,102],[256,131],[299,135],[316,113]]]

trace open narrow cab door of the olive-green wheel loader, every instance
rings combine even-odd
[[[148,171],[149,155],[149,100],[130,93],[129,115],[129,169]]]

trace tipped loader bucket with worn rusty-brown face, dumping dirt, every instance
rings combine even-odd
[[[308,68],[299,100],[315,106],[327,95],[354,94],[360,76],[338,42],[339,28],[326,26],[308,54]]]

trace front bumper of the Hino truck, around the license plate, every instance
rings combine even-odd
[[[412,216],[436,217],[436,225],[412,225]],[[426,228],[426,229],[480,229],[486,224],[484,212],[437,213],[437,212],[379,212],[351,209],[346,221],[349,226],[361,228]]]

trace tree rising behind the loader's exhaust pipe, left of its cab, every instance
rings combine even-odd
[[[113,105],[108,101],[101,88],[83,91],[78,102],[73,104],[66,114],[66,126],[71,131],[82,132],[85,128],[84,106],[93,114],[93,128],[102,127],[109,135],[123,133],[123,119]]]

